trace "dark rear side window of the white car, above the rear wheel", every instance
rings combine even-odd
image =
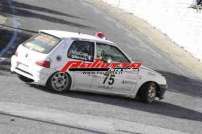
[[[67,52],[67,57],[83,61],[93,61],[94,43],[88,41],[74,41]]]

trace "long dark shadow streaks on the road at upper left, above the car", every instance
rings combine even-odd
[[[71,17],[71,18],[79,18],[74,15],[65,14],[65,13],[61,13],[61,12],[54,11],[51,9],[32,6],[32,5],[28,5],[28,4],[24,4],[24,3],[20,3],[20,2],[13,1],[11,3],[13,6],[13,10],[11,9],[8,1],[0,1],[0,13],[3,15],[15,15],[15,16],[23,16],[23,17],[29,17],[29,18],[37,18],[37,19],[46,20],[46,21],[53,22],[53,23],[65,24],[65,25],[79,27],[79,28],[92,29],[91,26],[67,21],[66,19],[56,18],[56,17],[50,16],[50,15],[45,15],[43,13],[39,13],[39,12],[63,15],[63,16]]]

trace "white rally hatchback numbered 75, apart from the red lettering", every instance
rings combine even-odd
[[[11,58],[11,72],[24,82],[57,92],[79,90],[139,98],[151,103],[162,99],[167,89],[164,76],[149,68],[113,73],[80,70],[59,71],[67,61],[109,62],[132,60],[113,42],[96,36],[56,30],[41,30],[25,41]]]

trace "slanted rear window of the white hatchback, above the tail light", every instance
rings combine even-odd
[[[24,43],[24,46],[40,52],[49,53],[58,43],[60,38],[48,34],[40,33]]]

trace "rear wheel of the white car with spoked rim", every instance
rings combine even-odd
[[[71,77],[67,73],[56,72],[49,78],[47,87],[56,93],[67,92],[71,87]]]

